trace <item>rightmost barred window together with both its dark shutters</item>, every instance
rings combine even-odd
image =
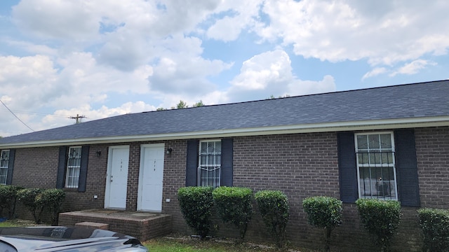
[[[413,130],[337,133],[340,199],[398,200],[420,207]]]

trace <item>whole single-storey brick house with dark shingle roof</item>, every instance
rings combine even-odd
[[[344,202],[331,246],[370,251],[354,202],[398,200],[394,248],[420,251],[416,210],[449,208],[449,80],[126,114],[5,137],[0,150],[0,183],[63,188],[63,211],[168,214],[172,232],[192,234],[183,186],[281,190],[288,240],[314,248],[322,233],[302,200],[326,195]],[[257,211],[247,239],[271,239]]]

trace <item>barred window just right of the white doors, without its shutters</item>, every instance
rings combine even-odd
[[[200,141],[198,186],[220,186],[222,143],[220,140]]]

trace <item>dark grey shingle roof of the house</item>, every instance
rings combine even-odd
[[[39,141],[449,116],[449,80],[126,114],[0,139]]]

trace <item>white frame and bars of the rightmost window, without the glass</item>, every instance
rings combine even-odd
[[[357,137],[358,136],[369,136],[369,135],[381,135],[381,134],[389,134],[390,135],[390,139],[391,139],[391,148],[382,148],[382,146],[379,144],[379,148],[370,148],[369,146],[369,141],[367,142],[368,146],[366,149],[359,149],[358,148],[358,141],[357,141]],[[398,188],[397,188],[397,179],[396,179],[396,158],[395,158],[395,149],[394,149],[394,133],[393,132],[360,132],[360,133],[356,133],[354,134],[354,141],[355,141],[355,151],[356,151],[356,165],[357,165],[357,188],[358,188],[358,198],[372,198],[372,199],[380,199],[380,200],[398,200]],[[382,150],[385,150],[384,152],[382,152]],[[368,163],[367,164],[363,164],[360,160],[359,157],[361,156],[361,153],[368,153]],[[370,155],[369,153],[373,154],[373,157],[378,157],[380,156],[380,163],[378,162],[370,162],[370,158],[372,157],[372,155]],[[376,155],[375,153],[391,153],[391,161],[387,162],[387,163],[383,163],[382,162],[382,154],[381,155]],[[376,158],[375,158],[376,159]],[[378,158],[377,158],[378,159]],[[389,160],[389,156],[387,155],[387,160]],[[370,175],[368,178],[368,181],[366,180],[366,178],[361,178],[361,168],[374,168],[374,169],[384,169],[384,168],[392,168],[393,169],[393,178],[390,178],[387,182],[385,182],[384,179],[382,179],[382,177],[376,178],[376,181],[373,181],[373,175],[371,173],[371,169],[369,169],[370,171]],[[382,182],[380,182],[382,181]],[[363,186],[362,184],[363,183]],[[385,185],[385,183],[387,183],[387,186],[389,188],[389,195],[384,195],[382,193],[380,193],[380,195],[378,195],[379,193],[379,189],[377,189],[377,186],[380,185],[380,183],[382,183],[382,185]],[[368,192],[368,193],[367,193]],[[373,193],[375,192],[375,193]],[[367,195],[368,194],[368,195]]]

